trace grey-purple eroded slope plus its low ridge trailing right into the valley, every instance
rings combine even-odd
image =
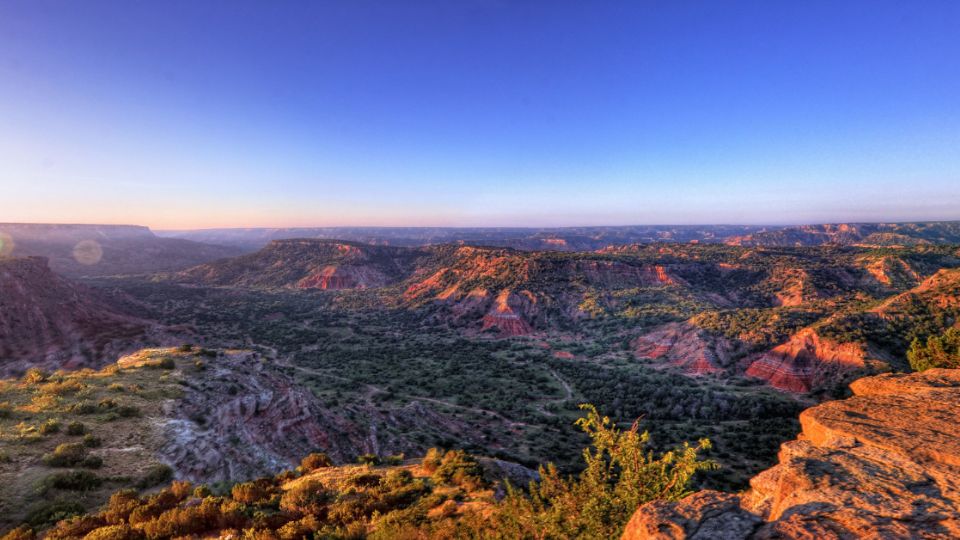
[[[173,371],[156,369],[169,360]],[[374,386],[363,389],[365,400],[331,407],[300,379],[325,375],[278,365],[252,351],[144,349],[120,358],[117,366],[152,366],[149,372],[166,380],[159,385],[167,385],[168,396],[161,414],[145,420],[152,428],[149,448],[177,478],[196,482],[276,474],[311,452],[339,464],[368,453],[423,455],[429,444],[422,434],[426,441],[455,437],[491,451],[503,450],[516,436],[505,418],[478,424],[443,412],[447,405],[439,400],[377,403],[372,396],[384,390]]]

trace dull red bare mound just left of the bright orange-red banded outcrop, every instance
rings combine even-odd
[[[735,345],[689,323],[668,323],[632,343],[637,358],[658,360],[685,373],[717,373],[729,367]]]

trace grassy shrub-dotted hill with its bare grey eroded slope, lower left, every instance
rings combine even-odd
[[[471,429],[416,404],[390,415],[327,407],[291,370],[245,350],[145,349],[99,371],[34,369],[0,380],[0,530],[56,508],[92,511],[117,489],[171,476],[230,484],[312,451],[338,464],[422,455],[417,434]],[[79,457],[49,457],[68,451]],[[77,471],[87,484],[68,482]]]

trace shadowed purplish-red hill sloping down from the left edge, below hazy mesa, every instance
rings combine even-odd
[[[55,274],[42,257],[0,257],[0,373],[99,367],[151,342],[154,326]]]

